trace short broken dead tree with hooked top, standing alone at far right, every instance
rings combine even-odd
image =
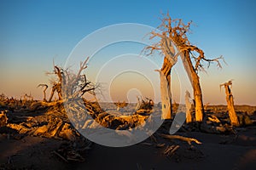
[[[231,93],[232,81],[230,80],[229,82],[224,82],[223,84],[219,85],[220,88],[223,86],[225,88],[226,100],[227,100],[231,125],[238,127],[239,121],[238,121],[238,117],[236,115],[236,111],[235,111],[235,107],[234,107],[233,94]]]

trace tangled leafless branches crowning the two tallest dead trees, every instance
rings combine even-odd
[[[207,59],[201,48],[198,48],[189,42],[187,33],[191,33],[190,26],[192,24],[192,21],[184,24],[183,20],[181,19],[172,20],[171,16],[168,13],[163,14],[163,18],[160,20],[161,24],[157,27],[158,31],[150,32],[150,39],[153,39],[154,37],[160,37],[161,41],[145,48],[145,51],[148,52],[148,55],[154,54],[154,51],[157,50],[165,56],[171,55],[172,58],[169,58],[169,60],[171,59],[170,62],[175,64],[177,62],[178,55],[182,54],[184,51],[187,51],[189,52],[191,59],[194,59],[195,61],[195,71],[205,71],[204,62],[207,62],[207,67],[209,67],[212,62],[217,63],[217,66],[219,68],[222,67],[219,60],[222,59],[224,61],[223,56],[220,56],[216,59]],[[172,43],[176,45],[179,53],[173,54],[174,50],[172,50]]]

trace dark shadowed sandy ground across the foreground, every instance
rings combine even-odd
[[[194,137],[202,144],[189,146],[177,141],[180,148],[172,157],[163,152],[166,145],[155,147],[147,139],[141,144],[111,148],[93,144],[84,153],[84,162],[65,162],[52,153],[67,141],[26,136],[23,139],[0,136],[0,169],[255,169],[256,127],[238,129],[238,135],[199,132],[178,133]],[[148,145],[148,144],[152,145]]]

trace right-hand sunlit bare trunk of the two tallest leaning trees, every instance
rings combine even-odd
[[[204,116],[204,107],[202,102],[202,94],[201,94],[201,86],[199,77],[195,71],[195,68],[190,60],[189,51],[183,52],[183,65],[185,70],[188,73],[189,80],[191,82],[193,91],[194,91],[194,99],[195,99],[195,121],[202,122]]]

